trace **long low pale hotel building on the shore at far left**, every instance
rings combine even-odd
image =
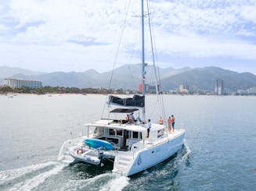
[[[13,78],[6,78],[4,84],[9,87],[42,87],[41,81],[37,80],[18,80]]]

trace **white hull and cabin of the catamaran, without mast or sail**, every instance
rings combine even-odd
[[[104,158],[111,158],[114,159],[113,172],[130,176],[167,160],[177,153],[184,144],[185,129],[175,129],[175,133],[167,133],[166,131],[164,132],[164,126],[153,124],[150,138],[144,138],[146,137],[144,126],[120,125],[116,123],[113,125],[96,123],[96,125],[88,124],[88,126],[92,126],[92,128],[95,128],[95,126],[103,129],[106,128],[103,131],[105,134],[101,134],[101,136],[105,137],[106,140],[116,140],[114,150],[99,150],[85,146],[84,140],[87,137],[81,136],[63,143],[63,147],[59,151],[59,161],[67,164],[74,164],[77,161],[100,164]],[[119,130],[121,128],[129,129],[131,132],[136,131],[136,135],[140,133],[142,139],[138,139],[139,136],[136,138],[130,136],[129,139],[124,141],[124,136],[110,134],[111,132],[108,129],[111,128]],[[96,136],[98,135],[96,134]],[[94,135],[89,137],[96,139]],[[127,147],[123,150],[121,146],[124,143]],[[81,148],[83,150],[80,152],[79,149]]]

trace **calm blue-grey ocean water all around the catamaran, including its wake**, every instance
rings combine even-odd
[[[256,190],[256,97],[164,95],[185,128],[175,156],[132,177],[103,167],[65,166],[64,140],[98,120],[105,95],[0,95],[0,190]],[[146,98],[157,122],[156,97]]]

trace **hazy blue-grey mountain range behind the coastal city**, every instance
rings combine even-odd
[[[141,65],[123,65],[114,71],[99,73],[94,69],[85,72],[54,72],[40,73],[27,69],[10,68],[0,66],[0,78],[13,77],[23,80],[40,80],[44,86],[52,87],[94,87],[113,89],[138,90],[141,81]],[[246,90],[256,87],[256,75],[252,73],[236,73],[231,70],[208,66],[204,68],[182,68],[174,69],[157,68],[160,73],[162,90],[175,90],[183,84],[189,87],[197,87],[201,90],[212,92],[215,90],[215,81],[223,80],[224,88],[230,91]],[[110,77],[112,76],[111,86]],[[154,84],[153,65],[146,66],[146,83]]]

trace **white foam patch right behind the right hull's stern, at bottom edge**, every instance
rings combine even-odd
[[[124,189],[125,186],[128,186],[128,180],[129,178],[126,176],[117,176],[113,180],[107,182],[107,184],[103,186],[100,191],[121,191],[122,189]]]

